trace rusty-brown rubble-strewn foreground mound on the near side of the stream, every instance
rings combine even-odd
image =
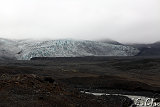
[[[50,77],[39,77],[34,74],[4,74],[0,78],[1,107],[113,107],[113,104],[124,107],[123,105],[130,105],[128,99],[122,101],[121,98],[126,99],[122,96],[101,98],[82,94],[62,83],[57,83]]]

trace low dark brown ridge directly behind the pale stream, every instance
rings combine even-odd
[[[63,79],[65,83],[75,88],[85,89],[115,89],[128,91],[151,91],[158,92],[159,87],[153,87],[139,81],[132,81],[118,76],[98,76],[98,77],[73,77]]]

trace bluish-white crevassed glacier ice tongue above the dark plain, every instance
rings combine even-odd
[[[11,44],[14,48],[7,50],[14,51],[13,55],[18,60],[32,57],[134,56],[139,52],[130,46],[84,40],[19,40]]]

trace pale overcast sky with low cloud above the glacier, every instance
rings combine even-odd
[[[0,0],[0,37],[160,41],[160,0]]]

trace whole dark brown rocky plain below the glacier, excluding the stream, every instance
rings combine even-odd
[[[78,90],[158,96],[160,58],[37,58],[0,62],[3,107],[128,107],[132,103],[124,96],[96,97]]]

